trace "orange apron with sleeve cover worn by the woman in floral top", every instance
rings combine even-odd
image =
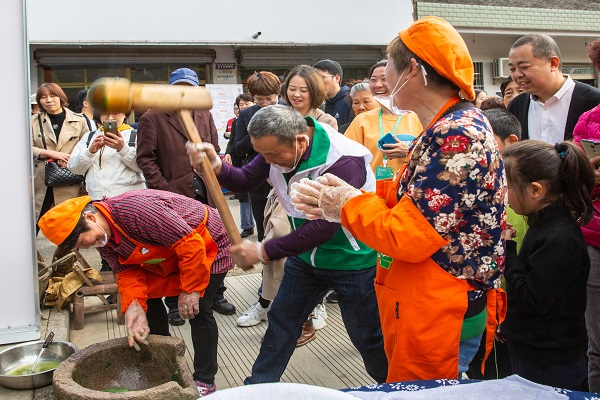
[[[474,288],[466,280],[455,278],[440,268],[429,256],[447,244],[429,221],[415,207],[407,196],[397,201],[399,177],[377,181],[377,196],[384,199],[386,209],[394,210],[403,216],[406,224],[399,227],[394,215],[388,215],[388,221],[380,224],[376,221],[379,213],[385,213],[383,204],[380,209],[371,208],[377,202],[372,198],[362,201],[360,196],[350,200],[349,210],[373,210],[371,215],[344,212],[342,223],[359,240],[368,235],[373,225],[379,229],[391,229],[399,237],[394,243],[383,247],[398,248],[406,257],[393,259],[391,264],[382,266],[378,259],[375,278],[375,292],[379,305],[384,347],[388,358],[388,382],[423,379],[458,378],[458,355],[462,324],[468,307],[468,293]],[[351,203],[355,202],[355,203]],[[371,203],[371,206],[368,203]],[[344,207],[344,211],[346,207]],[[389,210],[388,210],[389,211]],[[354,214],[354,215],[352,215]],[[390,226],[386,227],[385,225]],[[413,238],[414,236],[414,238]],[[413,239],[413,240],[411,240]],[[381,243],[381,238],[377,238]],[[427,243],[427,248],[411,246],[411,242]],[[368,241],[366,242],[368,244]],[[398,250],[400,251],[400,250]],[[487,290],[486,355],[487,358],[494,340],[496,327],[506,314],[506,293],[502,289]],[[483,371],[482,364],[482,371]]]

